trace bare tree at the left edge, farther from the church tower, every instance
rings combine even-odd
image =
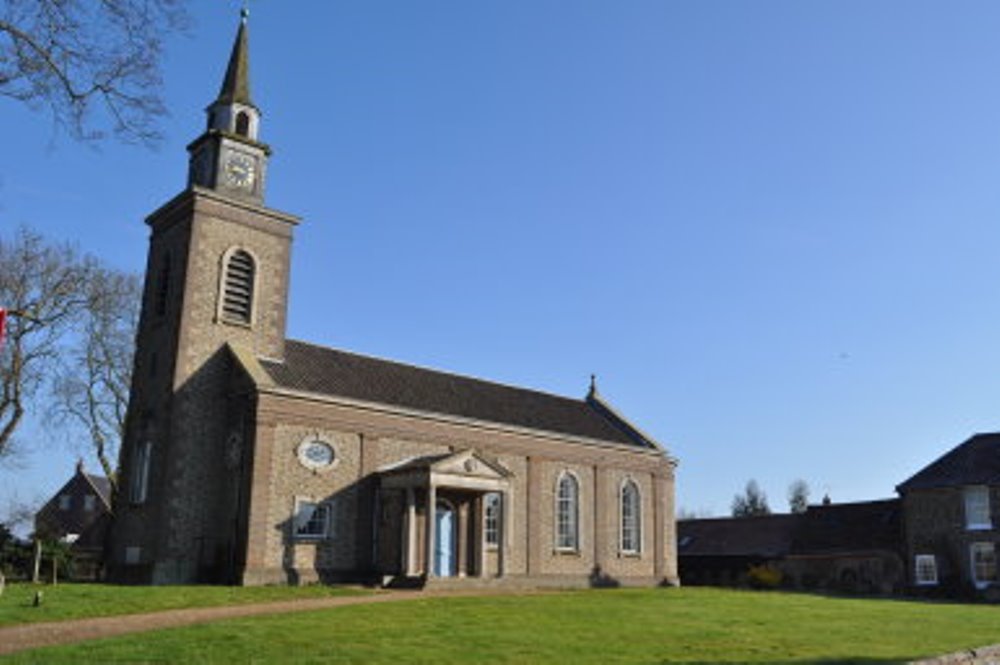
[[[0,307],[13,315],[0,348],[0,459],[57,362],[63,334],[86,305],[91,267],[68,245],[26,228],[0,238]]]

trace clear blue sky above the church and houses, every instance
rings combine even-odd
[[[0,231],[144,266],[238,2],[168,39],[157,152],[0,99]],[[289,335],[582,397],[680,459],[679,506],[891,496],[1000,429],[1000,4],[251,3]],[[35,420],[4,499],[72,472]],[[91,463],[91,466],[95,466]]]

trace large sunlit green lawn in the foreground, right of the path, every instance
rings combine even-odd
[[[891,663],[1000,642],[1000,607],[643,589],[462,597],[237,619],[12,662]]]

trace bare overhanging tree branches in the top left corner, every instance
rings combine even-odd
[[[155,143],[163,37],[185,0],[0,0],[0,96],[48,108],[77,139]]]

